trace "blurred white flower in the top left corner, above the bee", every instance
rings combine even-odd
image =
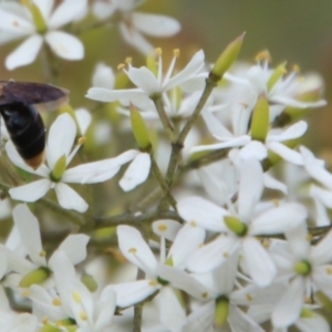
[[[27,38],[27,40],[14,50],[7,59],[6,66],[13,70],[18,66],[32,63],[45,41],[52,51],[60,58],[66,60],[81,60],[84,56],[82,42],[72,34],[59,29],[73,20],[86,10],[86,0],[65,0],[55,10],[54,0],[33,0],[34,11],[39,11],[38,24],[33,10],[29,6],[17,2],[1,2],[0,6],[0,38],[7,34],[6,42]],[[53,10],[53,11],[52,11]],[[38,15],[37,15],[38,17]]]

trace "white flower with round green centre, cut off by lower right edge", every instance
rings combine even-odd
[[[287,328],[300,317],[305,299],[318,291],[332,299],[332,232],[315,246],[308,240],[305,225],[286,232],[286,241],[271,247],[271,253],[278,266],[279,278],[288,281],[288,287],[277,302],[272,322],[276,328]]]

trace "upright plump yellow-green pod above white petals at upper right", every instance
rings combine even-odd
[[[252,139],[264,142],[269,132],[269,103],[264,95],[261,95],[255,106],[251,118]]]

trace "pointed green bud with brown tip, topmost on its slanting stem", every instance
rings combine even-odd
[[[229,70],[232,63],[237,60],[241,50],[243,38],[246,33],[242,33],[236,40],[234,40],[221,53],[216,61],[209,77],[216,82],[220,81],[224,74]]]

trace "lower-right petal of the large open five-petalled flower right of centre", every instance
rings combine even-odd
[[[242,253],[249,274],[259,287],[268,287],[277,276],[277,268],[261,243],[255,238],[246,238]]]

